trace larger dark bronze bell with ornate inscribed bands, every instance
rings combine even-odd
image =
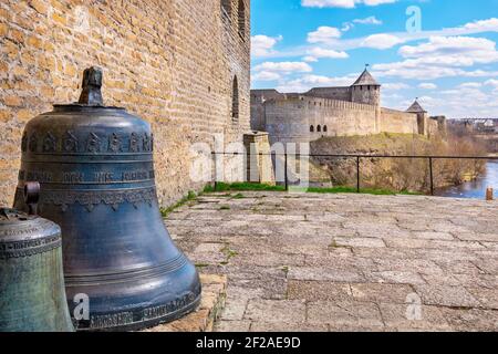
[[[62,229],[76,330],[139,330],[193,311],[200,282],[160,217],[149,124],[104,106],[101,86],[102,71],[87,69],[79,103],[28,123],[15,207],[28,208],[24,181],[39,180],[39,214]]]

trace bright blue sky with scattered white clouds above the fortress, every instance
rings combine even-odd
[[[498,0],[252,0],[251,17],[252,88],[346,86],[369,63],[384,106],[498,117]]]

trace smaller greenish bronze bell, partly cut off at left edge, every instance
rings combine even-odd
[[[28,188],[35,211],[37,185]],[[62,273],[61,229],[0,208],[0,332],[72,332]]]

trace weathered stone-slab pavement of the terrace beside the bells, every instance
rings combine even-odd
[[[166,225],[228,275],[217,331],[498,330],[496,201],[214,194]]]

